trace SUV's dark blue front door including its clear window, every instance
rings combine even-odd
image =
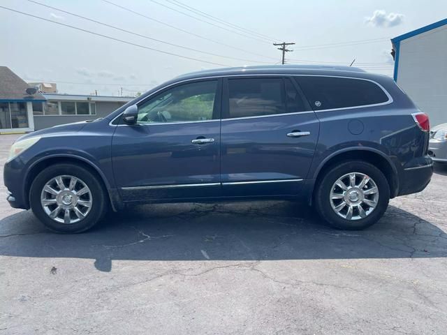
[[[112,165],[124,201],[219,196],[221,81],[177,84],[138,103],[120,121]]]

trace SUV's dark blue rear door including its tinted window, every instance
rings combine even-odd
[[[319,125],[295,82],[281,76],[224,78],[222,116],[223,194],[298,194]]]

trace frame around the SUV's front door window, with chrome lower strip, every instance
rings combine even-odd
[[[162,96],[163,94],[166,94],[167,91],[170,91],[171,89],[175,89],[177,87],[181,87],[188,84],[196,84],[198,82],[217,82],[216,85],[216,96],[214,96],[214,105],[212,110],[212,119],[210,120],[197,120],[197,121],[175,121],[175,122],[150,122],[147,124],[135,124],[135,125],[128,125],[124,124],[122,121],[122,114],[119,114],[117,119],[119,120],[118,126],[155,126],[155,125],[168,125],[168,124],[196,124],[198,122],[214,122],[214,121],[220,121],[221,120],[221,101],[222,101],[222,78],[221,77],[207,77],[207,78],[198,78],[195,80],[187,80],[184,82],[177,82],[175,84],[169,85],[167,87],[163,87],[163,89],[154,92],[154,94],[151,94],[150,96],[145,97],[141,101],[138,101],[138,103],[135,103],[137,107],[140,107],[141,105],[145,105],[145,103],[156,99],[159,96]]]

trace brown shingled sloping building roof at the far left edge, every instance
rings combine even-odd
[[[27,94],[29,85],[6,66],[0,66],[0,101],[45,101],[45,98],[36,93]]]

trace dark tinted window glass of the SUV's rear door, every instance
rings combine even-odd
[[[228,113],[224,118],[262,117],[301,112],[305,105],[288,78],[228,79]]]

